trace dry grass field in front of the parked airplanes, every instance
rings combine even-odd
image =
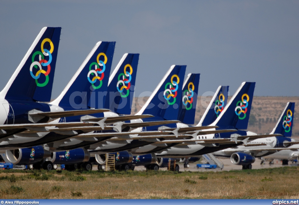
[[[0,198],[298,199],[299,167],[220,172],[18,171],[0,173]]]

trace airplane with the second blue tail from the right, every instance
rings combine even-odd
[[[196,139],[187,140],[164,140],[158,143],[181,143],[167,150],[156,153],[157,157],[193,157],[202,154],[219,151],[225,148],[247,144],[248,141],[279,136],[273,135],[248,135],[246,131],[248,119],[251,110],[255,83],[244,82],[232,97],[231,101],[220,113],[219,117],[213,122],[212,126],[218,126],[219,129],[237,129],[234,132],[209,134],[205,136],[197,136]],[[205,130],[203,130],[205,131]]]

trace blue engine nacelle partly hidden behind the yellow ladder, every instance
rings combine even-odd
[[[128,151],[114,152],[114,153],[110,153],[110,154],[114,154],[115,165],[131,163],[132,160],[133,160],[132,153],[130,153]],[[95,155],[95,160],[100,165],[105,165],[106,164],[105,154],[96,154]]]

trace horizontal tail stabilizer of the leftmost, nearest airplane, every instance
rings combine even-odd
[[[91,115],[95,113],[103,113],[108,112],[108,109],[89,109],[89,110],[68,110],[68,111],[60,111],[60,112],[36,112],[36,113],[28,113],[30,116],[44,116],[52,119],[57,119],[61,117],[71,117],[78,115]]]

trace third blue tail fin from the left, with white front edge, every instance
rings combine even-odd
[[[109,78],[104,108],[131,114],[139,54],[124,54]]]

